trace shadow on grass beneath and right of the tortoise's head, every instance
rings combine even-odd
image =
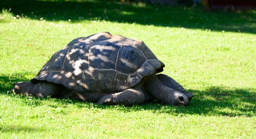
[[[255,89],[239,89],[227,86],[209,86],[205,90],[188,90],[194,94],[186,107],[175,107],[157,101],[131,107],[118,107],[121,111],[152,111],[170,115],[208,115],[208,116],[255,116]],[[105,108],[111,106],[97,106]]]

